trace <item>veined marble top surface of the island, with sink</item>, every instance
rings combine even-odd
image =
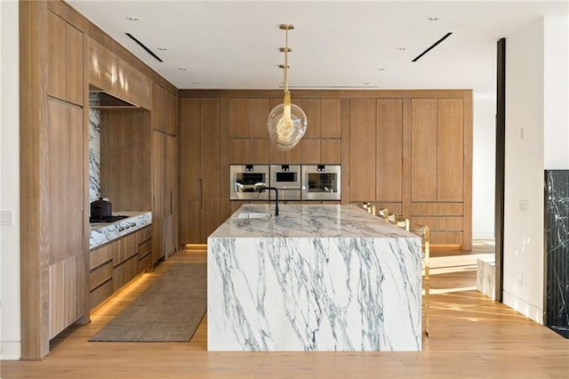
[[[210,238],[418,238],[357,206],[244,205]],[[268,219],[239,218],[239,214],[270,214]]]

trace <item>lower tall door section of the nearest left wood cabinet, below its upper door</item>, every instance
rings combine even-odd
[[[83,109],[47,100],[46,205],[49,234],[49,335],[83,316],[84,140]]]

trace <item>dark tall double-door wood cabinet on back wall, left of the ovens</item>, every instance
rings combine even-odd
[[[228,201],[221,191],[220,117],[219,99],[180,99],[181,244],[205,243],[220,225],[222,193]]]

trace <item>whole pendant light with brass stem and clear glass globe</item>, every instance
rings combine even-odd
[[[301,141],[309,122],[301,107],[291,103],[291,93],[288,91],[288,53],[292,51],[288,47],[288,31],[294,26],[282,24],[278,28],[285,32],[284,47],[279,49],[284,52],[284,65],[279,66],[284,72],[284,101],[270,111],[267,126],[270,141],[276,145],[276,149],[290,150]]]

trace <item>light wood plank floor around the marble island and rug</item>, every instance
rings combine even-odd
[[[89,343],[172,262],[205,262],[181,251],[96,310],[92,323],[68,330],[41,362],[1,363],[10,378],[567,378],[569,340],[492,302],[471,270],[431,277],[431,338],[421,352],[207,352],[206,323],[189,343]]]

